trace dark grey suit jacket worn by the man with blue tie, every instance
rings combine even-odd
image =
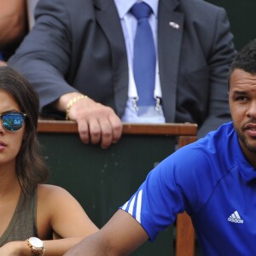
[[[79,90],[122,116],[128,64],[113,0],[42,0],[36,19],[9,65],[32,83],[41,107]],[[159,1],[158,55],[167,122],[197,123],[201,136],[230,119],[226,75],[235,55],[232,40],[224,9],[201,0]]]

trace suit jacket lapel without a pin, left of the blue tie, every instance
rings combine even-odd
[[[95,0],[96,20],[108,38],[113,60],[114,103],[119,116],[128,98],[128,61],[125,38],[113,0]]]

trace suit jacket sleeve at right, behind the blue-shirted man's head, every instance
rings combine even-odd
[[[198,137],[204,137],[208,131],[215,130],[219,125],[231,120],[227,73],[236,55],[236,49],[230,32],[230,22],[224,9],[219,9],[213,39],[212,54],[208,59],[211,86],[208,117],[201,125]]]

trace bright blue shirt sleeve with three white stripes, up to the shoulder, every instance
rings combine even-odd
[[[177,213],[186,211],[193,218],[207,204],[221,179],[218,162],[207,153],[209,145],[204,140],[171,154],[148,173],[137,192],[120,207],[137,219],[150,241],[173,224]]]

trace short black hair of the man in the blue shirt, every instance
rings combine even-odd
[[[230,66],[228,84],[230,89],[230,76],[235,69],[244,70],[247,73],[256,74],[256,39],[246,44],[237,54]]]

